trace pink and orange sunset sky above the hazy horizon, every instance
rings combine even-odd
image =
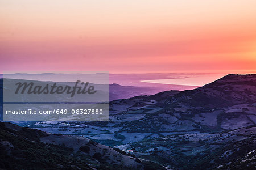
[[[253,73],[255,7],[255,0],[0,0],[0,73]]]

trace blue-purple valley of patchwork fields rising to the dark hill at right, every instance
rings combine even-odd
[[[133,150],[166,169],[254,169],[256,75],[229,74],[195,90],[113,100],[110,121],[16,123]]]

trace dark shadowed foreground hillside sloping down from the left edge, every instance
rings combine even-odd
[[[83,137],[9,122],[0,122],[0,153],[1,169],[164,169]]]

